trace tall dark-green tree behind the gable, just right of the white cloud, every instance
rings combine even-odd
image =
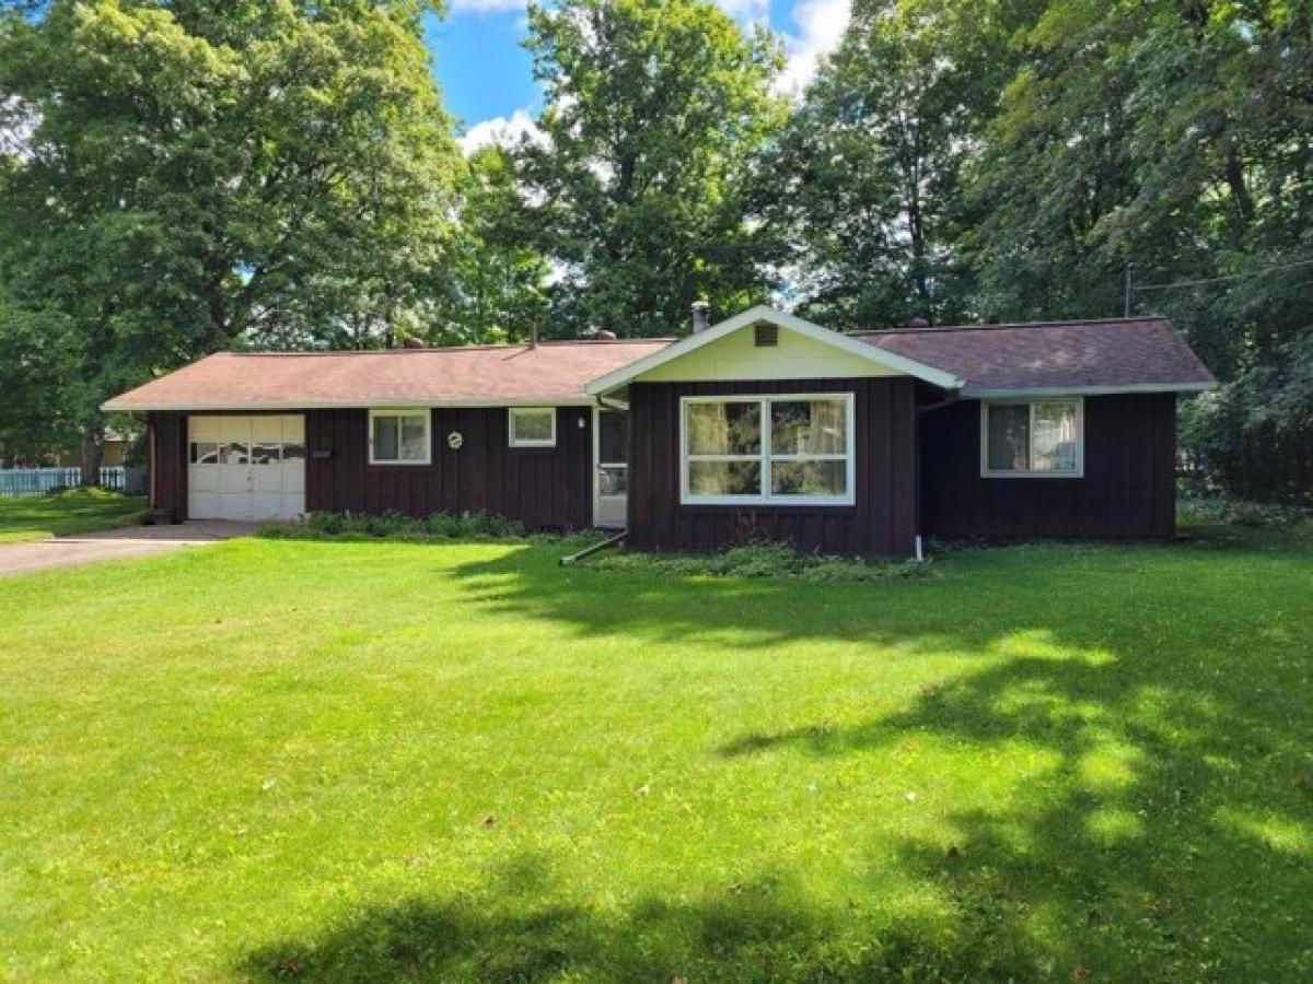
[[[857,0],[780,142],[776,215],[800,300],[827,324],[960,318],[961,171],[1007,83],[1031,0]]]

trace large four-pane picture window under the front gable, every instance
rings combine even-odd
[[[852,504],[852,394],[687,396],[680,413],[680,501]]]

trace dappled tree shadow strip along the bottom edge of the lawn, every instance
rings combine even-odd
[[[492,886],[483,901],[407,899],[319,935],[244,955],[251,980],[330,981],[871,981],[1027,976],[1037,954],[1002,932],[978,935],[909,917],[871,937],[773,879],[693,899],[645,897],[622,912],[525,905]],[[542,888],[540,886],[540,888]],[[479,893],[481,896],[483,892]]]

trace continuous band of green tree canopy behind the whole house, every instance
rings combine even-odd
[[[1129,269],[1224,382],[1192,459],[1313,487],[1308,4],[855,0],[792,101],[709,0],[533,4],[537,133],[469,160],[428,9],[11,4],[0,384],[46,395],[0,440],[217,348],[1102,318]]]

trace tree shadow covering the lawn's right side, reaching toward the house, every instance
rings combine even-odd
[[[901,712],[747,732],[714,753],[832,757],[923,737],[974,762],[1032,749],[1053,762],[1033,787],[987,808],[949,808],[953,844],[905,845],[903,866],[947,893],[968,935],[993,926],[1057,968],[1308,979],[1308,558],[1275,543],[1237,558],[1245,567],[1228,577],[1262,584],[1238,594],[1225,580],[1203,586],[1230,563],[1211,544],[1115,548],[1111,573],[1099,548],[1088,558],[1091,576],[1061,551],[983,555],[966,573],[972,590],[961,580],[626,585],[593,572],[554,577],[509,558],[461,573],[478,604],[583,635],[706,648],[853,640],[871,644],[874,677],[880,660],[903,653],[960,656],[953,678],[927,680]],[[607,594],[614,605],[599,604]],[[829,607],[819,617],[809,605]]]

